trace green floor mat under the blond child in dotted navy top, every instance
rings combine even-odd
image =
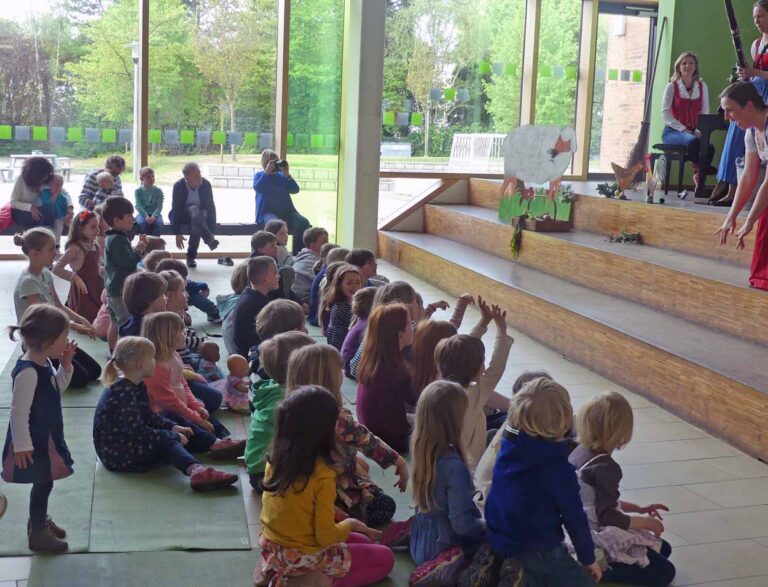
[[[238,416],[224,411],[216,415],[235,430]],[[234,464],[213,466],[239,473]],[[90,543],[90,552],[249,549],[240,482],[198,493],[190,489],[189,478],[171,466],[147,473],[111,473],[99,463]]]

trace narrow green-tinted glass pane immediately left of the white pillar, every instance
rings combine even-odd
[[[292,0],[287,160],[296,208],[336,232],[344,0]]]

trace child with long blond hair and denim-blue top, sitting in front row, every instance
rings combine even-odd
[[[467,393],[450,381],[430,383],[416,404],[412,451],[416,515],[410,552],[419,566],[411,574],[411,585],[454,585],[465,561],[485,539],[461,449],[467,407]]]

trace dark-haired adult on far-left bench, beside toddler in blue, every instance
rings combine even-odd
[[[24,161],[21,175],[11,192],[11,217],[24,228],[46,226],[53,229],[54,209],[42,205],[40,192],[53,177],[53,165],[45,157],[30,157]]]

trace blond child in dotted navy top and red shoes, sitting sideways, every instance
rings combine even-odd
[[[142,380],[152,377],[154,371],[155,347],[149,340],[126,336],[118,341],[104,370],[109,387],[93,418],[93,444],[104,467],[143,473],[170,464],[189,477],[195,491],[233,485],[237,475],[204,467],[190,454],[214,450],[204,436],[150,409]]]

